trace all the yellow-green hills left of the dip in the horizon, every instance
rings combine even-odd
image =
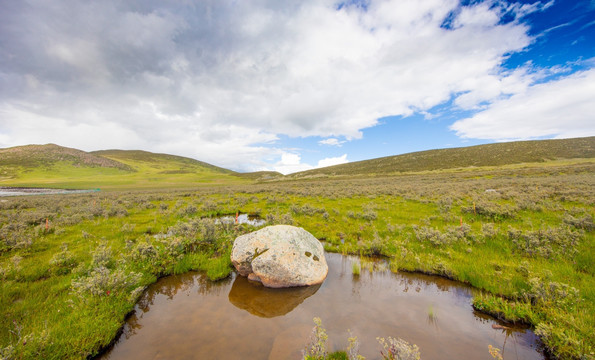
[[[198,160],[139,150],[85,152],[54,144],[0,149],[0,186],[135,189],[248,181],[235,175]]]

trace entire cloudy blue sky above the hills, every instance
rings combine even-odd
[[[595,135],[595,1],[3,2],[0,147],[290,173]]]

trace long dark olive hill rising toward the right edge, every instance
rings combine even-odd
[[[592,136],[562,140],[516,141],[420,151],[302,171],[288,175],[288,177],[391,174],[594,157],[595,136]]]

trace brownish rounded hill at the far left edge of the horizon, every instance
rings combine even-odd
[[[68,162],[75,167],[106,167],[132,171],[130,166],[120,162],[55,144],[25,145],[0,149],[1,167],[48,168],[60,162]]]

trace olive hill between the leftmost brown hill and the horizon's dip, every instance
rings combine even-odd
[[[119,163],[128,164],[133,168],[136,167],[135,165],[138,166],[142,164],[143,166],[153,168],[162,174],[185,174],[201,171],[236,175],[234,171],[195,159],[142,150],[100,150],[92,151],[91,154]]]

